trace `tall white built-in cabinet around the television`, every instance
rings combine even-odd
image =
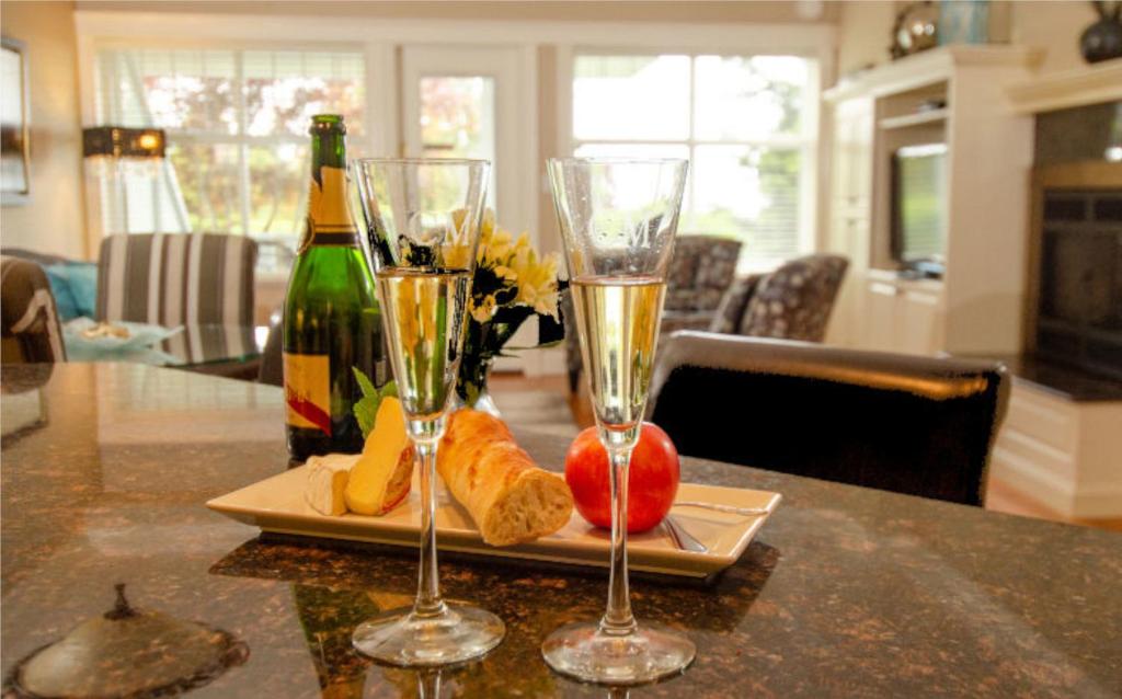
[[[1002,88],[1038,59],[1018,46],[947,46],[824,94],[834,119],[826,248],[850,263],[828,342],[922,355],[1022,349],[1032,120],[1009,108]],[[946,274],[901,279],[893,153],[932,142],[948,149]]]

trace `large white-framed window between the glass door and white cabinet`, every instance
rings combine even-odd
[[[817,65],[801,56],[578,54],[578,156],[688,157],[679,231],[744,242],[742,270],[812,245]]]

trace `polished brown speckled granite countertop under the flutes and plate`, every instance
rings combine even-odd
[[[359,620],[412,598],[415,553],[263,540],[203,505],[285,468],[278,389],[111,364],[2,377],[6,677],[125,582],[137,608],[248,647],[194,696],[606,696],[537,650],[603,610],[605,571],[442,555],[445,597],[503,617],[503,645],[441,673],[351,651]],[[561,463],[565,440],[518,438]],[[695,459],[683,477],[784,500],[711,583],[633,579],[640,620],[698,645],[683,675],[633,697],[1122,692],[1122,534]]]

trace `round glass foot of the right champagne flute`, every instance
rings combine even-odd
[[[642,684],[686,670],[697,649],[684,635],[644,622],[626,636],[613,636],[582,622],[557,629],[542,644],[545,664],[582,682]]]

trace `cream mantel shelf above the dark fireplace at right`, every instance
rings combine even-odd
[[[1005,89],[1013,109],[1038,114],[1122,100],[1122,58],[1048,73]]]

